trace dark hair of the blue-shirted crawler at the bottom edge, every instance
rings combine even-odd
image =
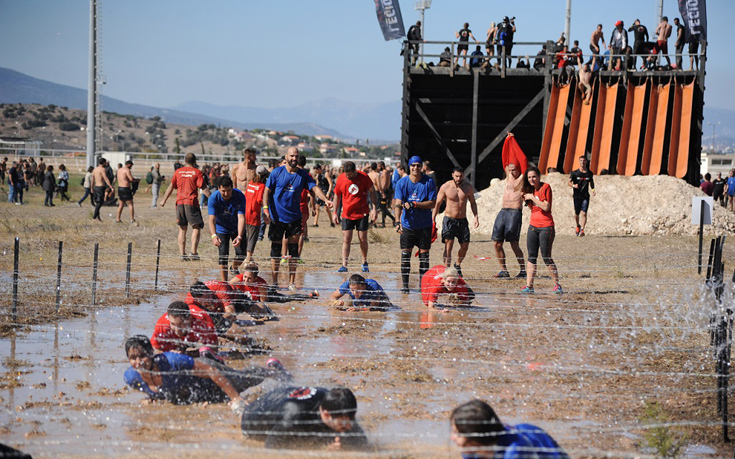
[[[450,422],[463,437],[478,445],[495,444],[498,435],[505,431],[495,410],[482,400],[472,400],[455,408]]]

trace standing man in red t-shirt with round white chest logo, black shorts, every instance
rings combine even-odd
[[[344,164],[344,173],[337,178],[334,187],[334,219],[339,220],[337,209],[342,203],[342,266],[339,273],[347,272],[347,260],[350,258],[350,244],[352,234],[357,230],[362,252],[362,272],[369,272],[367,263],[367,230],[371,220],[377,217],[378,195],[375,192],[373,181],[362,171],[358,171],[355,163],[347,161]],[[372,210],[368,206],[368,193]]]

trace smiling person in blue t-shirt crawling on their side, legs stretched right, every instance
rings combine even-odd
[[[167,400],[177,405],[229,400],[230,408],[238,414],[245,407],[241,392],[266,378],[291,378],[276,359],[270,359],[267,368],[251,366],[235,370],[215,360],[194,359],[177,352],[156,354],[143,335],[128,338],[125,355],[130,361],[124,375],[125,384],[151,400]]]

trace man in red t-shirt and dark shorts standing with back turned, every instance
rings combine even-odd
[[[166,194],[161,200],[161,207],[166,205],[166,201],[174,192],[176,192],[176,223],[179,225],[179,252],[181,259],[199,260],[199,236],[204,227],[202,219],[202,211],[199,208],[199,189],[209,197],[209,190],[204,185],[204,176],[197,169],[197,157],[194,153],[187,153],[184,158],[186,166],[181,167],[174,172],[171,178],[171,185],[166,190]],[[186,230],[191,225],[191,252],[186,255]]]

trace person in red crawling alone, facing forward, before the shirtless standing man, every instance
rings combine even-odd
[[[446,303],[439,303],[445,295]],[[429,309],[467,307],[475,299],[475,292],[465,283],[456,268],[437,265],[421,278],[421,299]]]

